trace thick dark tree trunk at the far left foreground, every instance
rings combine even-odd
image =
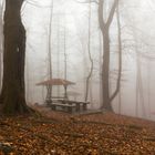
[[[25,30],[21,22],[22,0],[6,0],[3,81],[0,102],[7,114],[28,113],[24,94]]]

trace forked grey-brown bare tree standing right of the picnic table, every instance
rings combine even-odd
[[[111,101],[116,96],[116,93],[110,96],[110,27],[114,18],[115,9],[118,0],[114,0],[107,20],[104,20],[104,0],[99,0],[99,23],[103,37],[103,64],[102,64],[102,90],[103,90],[103,105],[101,108],[113,111]]]

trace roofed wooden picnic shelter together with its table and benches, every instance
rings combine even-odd
[[[37,85],[44,85],[48,89],[48,93],[46,93],[46,100],[45,103],[51,106],[52,110],[61,110],[61,111],[66,111],[69,113],[72,112],[80,112],[80,111],[86,111],[86,106],[89,104],[89,102],[81,102],[81,101],[75,101],[75,100],[69,100],[68,99],[68,93],[69,95],[73,95],[73,96],[78,96],[80,95],[80,93],[76,92],[68,92],[66,89],[69,85],[75,84],[74,82],[68,81],[68,80],[63,80],[63,79],[51,79],[51,80],[46,80],[46,81],[42,81],[40,83],[37,83]],[[54,85],[62,85],[64,86],[64,96],[56,96],[53,97],[51,95],[51,91],[50,91],[50,86],[54,86]],[[54,100],[53,100],[54,99]]]

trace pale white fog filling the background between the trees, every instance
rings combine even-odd
[[[107,20],[113,0],[105,2],[104,20]],[[53,10],[52,10],[53,7]],[[115,113],[155,120],[155,2],[153,0],[120,0],[122,31],[122,80],[121,89],[112,102]],[[65,78],[75,85],[68,91],[80,93],[84,101],[85,80],[91,63],[87,53],[89,3],[84,0],[25,0],[21,10],[27,30],[25,89],[27,102],[43,104],[44,86],[37,83],[49,79],[49,43],[52,59],[52,76]],[[51,22],[52,10],[52,23]],[[51,38],[49,32],[51,25]],[[104,50],[99,27],[97,4],[91,3],[90,51],[93,72],[89,87],[89,108],[102,105],[101,66]],[[110,92],[116,87],[118,70],[117,21],[114,14],[110,27]],[[63,87],[53,86],[54,95],[63,95]],[[72,99],[72,96],[69,96]]]

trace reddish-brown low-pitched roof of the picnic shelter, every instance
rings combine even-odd
[[[72,84],[75,83],[64,79],[51,79],[37,83],[37,85],[72,85]]]

